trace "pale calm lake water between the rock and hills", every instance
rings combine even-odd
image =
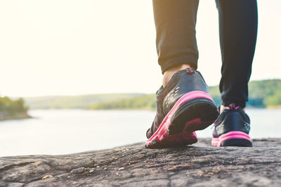
[[[280,137],[280,109],[247,109],[252,138]],[[34,118],[0,122],[0,156],[58,155],[145,141],[154,111],[33,110]],[[197,132],[211,137],[212,129]]]

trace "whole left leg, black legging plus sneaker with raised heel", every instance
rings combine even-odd
[[[202,75],[195,70],[197,7],[198,0],[153,0],[158,62],[164,76],[156,93],[155,120],[146,133],[148,148],[194,144],[195,131],[218,116]]]

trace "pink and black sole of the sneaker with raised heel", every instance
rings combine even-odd
[[[165,116],[157,131],[145,143],[146,148],[183,146],[197,142],[196,130],[216,120],[218,109],[209,94],[192,91],[183,95]]]

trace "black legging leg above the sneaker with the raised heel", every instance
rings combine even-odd
[[[174,67],[181,69],[181,64],[197,69],[195,25],[198,1],[153,0],[158,63],[163,74]]]

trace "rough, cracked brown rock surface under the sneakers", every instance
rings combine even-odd
[[[209,143],[3,157],[0,186],[281,186],[281,139],[254,139],[253,148]]]

